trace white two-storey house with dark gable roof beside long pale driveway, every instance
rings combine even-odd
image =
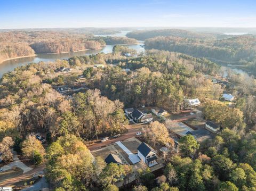
[[[141,143],[138,147],[138,157],[145,162],[149,167],[157,164],[156,152],[146,143]]]

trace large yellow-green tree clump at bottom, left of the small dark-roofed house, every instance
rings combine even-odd
[[[93,158],[82,140],[74,135],[59,137],[46,153],[46,176],[55,187],[86,190],[95,176]]]

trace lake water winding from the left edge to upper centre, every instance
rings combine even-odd
[[[129,31],[122,31],[119,34],[111,35],[111,36],[125,36]],[[144,52],[145,49],[141,47],[143,45],[143,41],[139,41],[139,44],[135,45],[126,45],[129,48],[135,49],[138,53]],[[7,60],[0,64],[0,78],[3,76],[4,73],[14,70],[14,68],[20,67],[22,65],[28,64],[28,63],[38,63],[40,61],[43,62],[53,62],[57,59],[68,59],[69,57],[73,56],[85,56],[90,54],[98,54],[100,52],[103,53],[111,53],[114,45],[106,45],[102,49],[98,50],[89,50],[89,51],[80,51],[80,52],[71,52],[71,53],[60,53],[60,54],[37,54],[37,56],[34,57],[23,57],[20,59],[12,59]]]

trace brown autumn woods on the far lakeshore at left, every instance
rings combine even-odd
[[[0,62],[35,53],[61,53],[99,49],[105,41],[91,34],[56,31],[10,31],[0,33]]]

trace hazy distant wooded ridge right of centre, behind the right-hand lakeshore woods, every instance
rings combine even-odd
[[[129,38],[135,38],[138,40],[146,40],[148,38],[158,37],[158,36],[172,36],[181,38],[198,38],[198,39],[215,39],[214,34],[203,34],[191,32],[188,30],[181,29],[161,29],[161,30],[135,30],[127,33]]]

